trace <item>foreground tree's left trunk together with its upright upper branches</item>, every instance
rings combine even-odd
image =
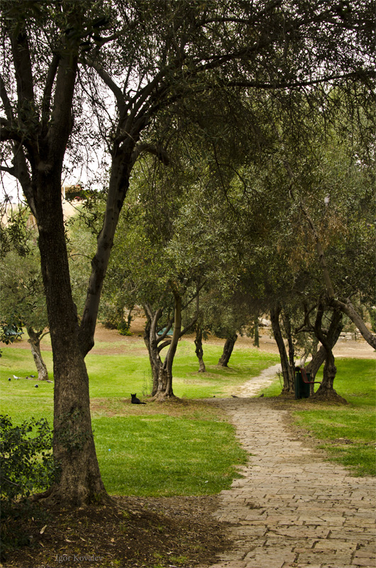
[[[62,10],[65,10],[64,6]],[[77,11],[70,20],[84,18]],[[15,144],[16,177],[37,220],[40,265],[45,290],[54,371],[53,455],[60,476],[50,490],[50,500],[62,506],[108,499],[101,480],[94,447],[89,405],[89,378],[79,350],[77,310],[72,300],[70,273],[62,214],[61,174],[65,148],[72,130],[72,99],[77,76],[77,49],[64,45],[52,55],[50,90],[45,91],[44,114],[30,115],[34,107],[33,68],[26,28],[11,31],[13,65],[17,82],[18,124],[25,127],[24,145]],[[79,40],[78,40],[79,41]],[[51,97],[52,83],[54,94]],[[4,95],[6,99],[6,96]],[[53,108],[50,109],[50,99]],[[28,110],[25,116],[23,109]],[[17,158],[21,156],[21,158]],[[26,156],[30,173],[26,167]]]

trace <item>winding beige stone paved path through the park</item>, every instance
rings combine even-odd
[[[211,568],[375,568],[376,480],[325,461],[265,398],[216,403],[252,455],[221,493],[216,518],[232,523],[235,545]]]

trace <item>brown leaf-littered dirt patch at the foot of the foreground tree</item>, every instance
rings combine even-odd
[[[4,567],[195,567],[211,564],[231,547],[226,523],[214,520],[216,496],[114,498],[114,506],[78,510],[35,506],[28,517],[8,521]],[[16,536],[15,536],[16,537]]]

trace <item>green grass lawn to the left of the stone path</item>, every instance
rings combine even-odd
[[[97,344],[101,346],[101,344]],[[141,344],[142,345],[142,344]],[[232,425],[218,408],[192,399],[228,395],[231,388],[275,364],[277,356],[238,347],[230,368],[217,368],[221,344],[205,346],[208,372],[198,373],[194,344],[179,342],[174,391],[182,403],[130,404],[150,392],[147,354],[89,354],[92,422],[104,484],[111,494],[204,495],[228,488],[246,460]],[[52,354],[43,351],[48,369]],[[52,424],[53,384],[15,380],[33,371],[28,349],[4,347],[0,359],[1,413],[13,423],[33,416]],[[11,381],[8,378],[11,377]],[[52,377],[52,373],[50,373]]]

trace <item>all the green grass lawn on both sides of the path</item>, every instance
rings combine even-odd
[[[96,344],[98,345],[98,344]],[[99,346],[101,344],[99,343]],[[142,346],[142,343],[140,343]],[[0,359],[1,413],[21,422],[34,416],[52,424],[53,385],[16,381],[33,373],[28,349],[4,347]],[[236,465],[245,462],[235,432],[218,408],[201,398],[231,395],[233,388],[278,362],[272,354],[236,346],[230,368],[216,366],[221,344],[205,344],[207,373],[198,373],[194,345],[179,342],[174,391],[181,403],[131,405],[131,393],[150,391],[150,366],[142,350],[89,354],[92,420],[102,476],[111,494],[138,496],[203,495],[231,485]],[[52,354],[43,353],[49,370]],[[338,359],[335,388],[346,406],[289,401],[300,427],[324,441],[332,459],[356,475],[375,474],[375,361]],[[52,373],[50,373],[50,376]],[[12,380],[8,381],[11,377]],[[265,389],[276,396],[280,381]]]

